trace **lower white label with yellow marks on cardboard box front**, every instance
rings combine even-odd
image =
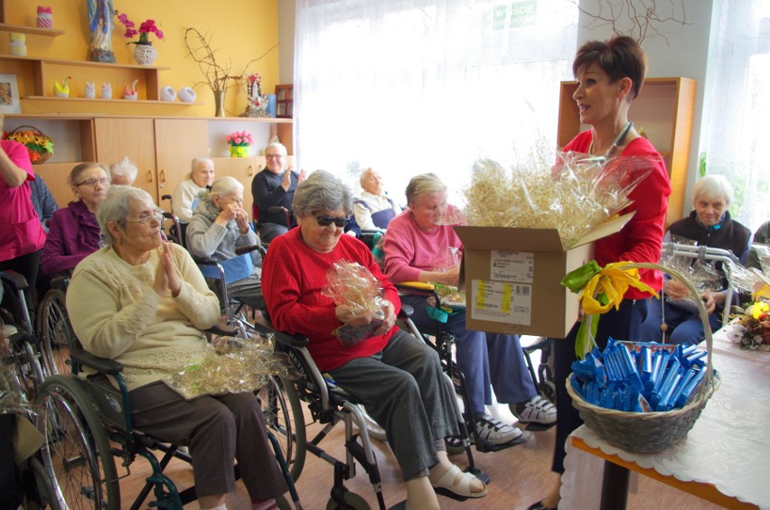
[[[474,280],[471,292],[471,319],[531,325],[531,285]]]

